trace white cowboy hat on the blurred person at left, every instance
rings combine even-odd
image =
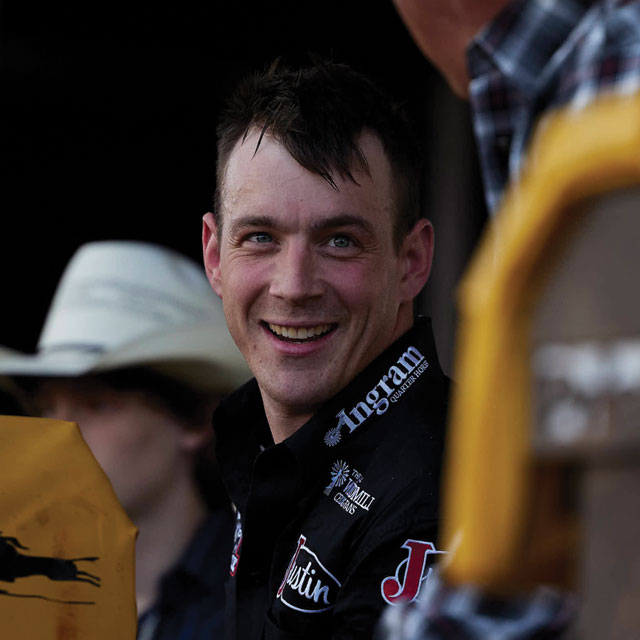
[[[67,265],[34,355],[0,354],[0,375],[82,376],[149,367],[226,393],[251,377],[204,272],[164,247],[92,242]]]

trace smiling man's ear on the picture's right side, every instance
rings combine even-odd
[[[413,300],[429,279],[433,261],[433,225],[420,218],[405,236],[400,247],[403,268],[400,289],[405,301]]]

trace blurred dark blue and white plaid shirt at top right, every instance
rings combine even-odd
[[[640,0],[513,0],[467,52],[487,205],[517,177],[529,136],[554,107],[640,88]]]

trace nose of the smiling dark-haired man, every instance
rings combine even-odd
[[[269,292],[292,302],[322,295],[323,280],[311,247],[304,242],[291,242],[278,252]]]

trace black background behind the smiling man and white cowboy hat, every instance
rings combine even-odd
[[[449,362],[452,292],[485,219],[475,149],[466,104],[391,0],[0,2],[0,344],[35,349],[84,242],[148,240],[200,262],[222,98],[273,58],[311,51],[373,77],[414,117],[437,234],[421,306]]]

